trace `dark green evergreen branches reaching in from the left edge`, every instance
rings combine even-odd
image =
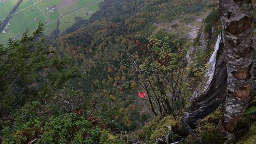
[[[78,68],[68,68],[71,58],[59,58],[45,38],[40,38],[43,31],[40,23],[32,36],[27,30],[21,40],[10,39],[6,48],[1,45],[0,116],[8,116],[26,102],[41,100],[40,91],[57,91],[68,80],[81,77]]]

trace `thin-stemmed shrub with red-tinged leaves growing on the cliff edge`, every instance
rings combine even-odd
[[[181,49],[177,42],[170,48],[164,41],[154,36],[148,38],[148,44],[134,40],[135,52],[126,50],[129,61],[120,57],[120,62],[134,71],[134,80],[146,91],[148,98],[145,106],[155,115],[179,113],[186,107],[190,92],[190,82],[186,77],[186,49]]]

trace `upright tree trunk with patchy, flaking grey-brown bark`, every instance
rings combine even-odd
[[[234,132],[250,99],[253,83],[252,12],[254,0],[220,0],[228,87],[222,126]]]

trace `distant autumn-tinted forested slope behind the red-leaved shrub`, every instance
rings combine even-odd
[[[68,87],[84,89],[88,98],[95,94],[99,95],[102,115],[117,120],[124,128],[135,128],[141,120],[143,121],[143,118],[138,119],[143,113],[140,113],[141,107],[136,107],[140,104],[136,101],[131,102],[131,100],[138,100],[135,94],[141,88],[138,85],[134,86],[134,83],[132,85],[134,72],[129,67],[120,64],[118,59],[120,56],[124,56],[124,59],[127,59],[127,64],[130,64],[128,56],[123,54],[127,51],[130,54],[135,54],[134,39],[146,44],[148,40],[144,37],[149,37],[151,34],[155,34],[161,40],[164,40],[164,36],[169,36],[171,39],[167,40],[167,43],[173,51],[182,47],[185,44],[184,36],[180,35],[180,41],[178,41],[177,34],[187,35],[184,31],[190,29],[185,28],[185,25],[200,26],[200,22],[195,22],[195,20],[204,18],[211,9],[210,7],[216,6],[216,3],[202,0],[196,2],[191,0],[128,2],[108,0],[102,2],[99,12],[84,24],[78,22],[68,28],[65,32],[68,34],[60,36],[53,46],[61,52],[62,56],[72,56],[74,65],[84,70],[85,78]],[[206,6],[207,8],[204,8]],[[196,16],[197,14],[199,16]],[[92,22],[96,16],[102,19]],[[192,17],[192,19],[187,20],[188,17]],[[181,24],[179,30],[168,31],[170,21],[174,20],[175,26],[178,18],[179,25]],[[164,28],[158,24],[156,27],[154,21],[169,26]],[[190,23],[191,21],[192,23]],[[84,28],[80,28],[83,26]],[[176,28],[178,27],[176,26]],[[111,110],[105,112],[106,109]],[[123,111],[122,109],[127,110]],[[120,113],[116,113],[116,111]],[[129,112],[132,113],[129,114]],[[150,113],[145,114],[150,115]],[[123,118],[127,120],[122,121]]]

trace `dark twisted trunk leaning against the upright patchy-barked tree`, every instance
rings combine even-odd
[[[180,136],[175,138],[174,141],[181,140],[184,136],[188,135],[191,131],[188,128],[195,129],[203,118],[214,112],[222,104],[226,97],[226,87],[226,58],[223,54],[223,44],[221,43],[217,52],[216,69],[212,81],[206,92],[192,101],[181,122],[174,126],[173,132]]]

